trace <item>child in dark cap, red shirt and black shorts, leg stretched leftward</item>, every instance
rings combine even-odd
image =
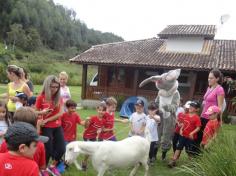
[[[195,152],[194,140],[196,140],[197,132],[200,130],[201,127],[201,121],[197,114],[200,108],[200,103],[192,101],[189,105],[189,113],[185,114],[183,118],[183,122],[180,128],[180,136],[176,146],[176,151],[172,160],[168,164],[169,167],[176,166],[176,160],[179,159],[181,151],[184,147],[189,157],[191,157],[191,155]]]

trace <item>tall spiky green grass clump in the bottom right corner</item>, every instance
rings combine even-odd
[[[191,176],[235,176],[236,175],[236,135],[221,133],[202,156],[181,170]]]

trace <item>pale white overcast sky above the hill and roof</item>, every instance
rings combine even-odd
[[[235,0],[54,0],[74,9],[89,28],[126,41],[157,37],[167,25],[217,25],[216,39],[236,39]],[[225,24],[220,17],[229,15]]]

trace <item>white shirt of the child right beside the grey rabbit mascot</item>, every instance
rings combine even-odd
[[[156,117],[158,118],[158,115],[156,115]],[[158,123],[150,118],[150,116],[147,116],[147,123],[146,123],[146,128],[149,130],[150,133],[150,138],[151,138],[151,142],[154,141],[158,141],[158,132],[157,132],[157,128],[158,128]]]

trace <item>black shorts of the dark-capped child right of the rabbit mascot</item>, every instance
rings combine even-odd
[[[195,142],[193,140],[179,135],[179,139],[176,145],[176,150],[183,150],[185,147],[185,150],[188,154],[194,154],[195,153],[194,146]]]

